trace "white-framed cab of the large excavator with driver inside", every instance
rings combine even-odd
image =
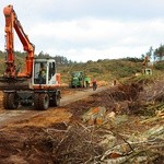
[[[57,86],[60,83],[60,75],[56,73],[54,59],[34,59],[32,85]]]

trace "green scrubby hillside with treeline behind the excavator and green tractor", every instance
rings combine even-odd
[[[4,59],[5,52],[0,51],[0,73],[2,74],[5,68]],[[26,52],[15,51],[15,62],[22,69],[25,66]],[[75,62],[68,60],[63,56],[51,57],[48,54],[40,52],[36,55],[37,58],[55,58],[57,63],[57,71],[61,74],[61,82],[69,83],[70,73],[72,71],[84,71],[87,77],[95,78],[98,81],[112,81],[120,80],[122,78],[132,77],[137,72],[142,71],[142,60],[138,58],[124,58],[124,59],[104,59],[97,61],[87,61],[87,62]],[[155,71],[164,70],[164,61],[160,61],[154,65],[153,68]]]

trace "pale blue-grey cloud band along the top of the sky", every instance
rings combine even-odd
[[[38,13],[49,20],[72,20],[78,17],[150,19],[162,17],[162,0],[60,0],[40,5]],[[35,7],[34,5],[34,10]]]

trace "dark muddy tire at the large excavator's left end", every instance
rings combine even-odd
[[[8,95],[8,107],[9,109],[16,109],[19,106],[19,102],[16,102],[15,93],[10,93]]]

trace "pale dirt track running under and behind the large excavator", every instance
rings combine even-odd
[[[109,86],[101,86],[96,91],[93,91],[92,89],[89,90],[80,90],[77,91],[75,93],[71,95],[65,95],[61,97],[61,103],[60,106],[65,107],[68,104],[74,103],[77,101],[86,98],[87,96],[102,92],[106,90]],[[21,120],[27,120],[32,117],[39,116],[43,114],[46,114],[47,110],[35,110],[33,106],[31,107],[22,107],[20,106],[16,110],[4,110],[2,106],[2,93],[0,94],[0,128],[8,126],[8,124],[12,124],[15,121],[21,121]],[[49,109],[57,109],[56,108],[49,108]],[[49,110],[48,109],[48,110]]]

